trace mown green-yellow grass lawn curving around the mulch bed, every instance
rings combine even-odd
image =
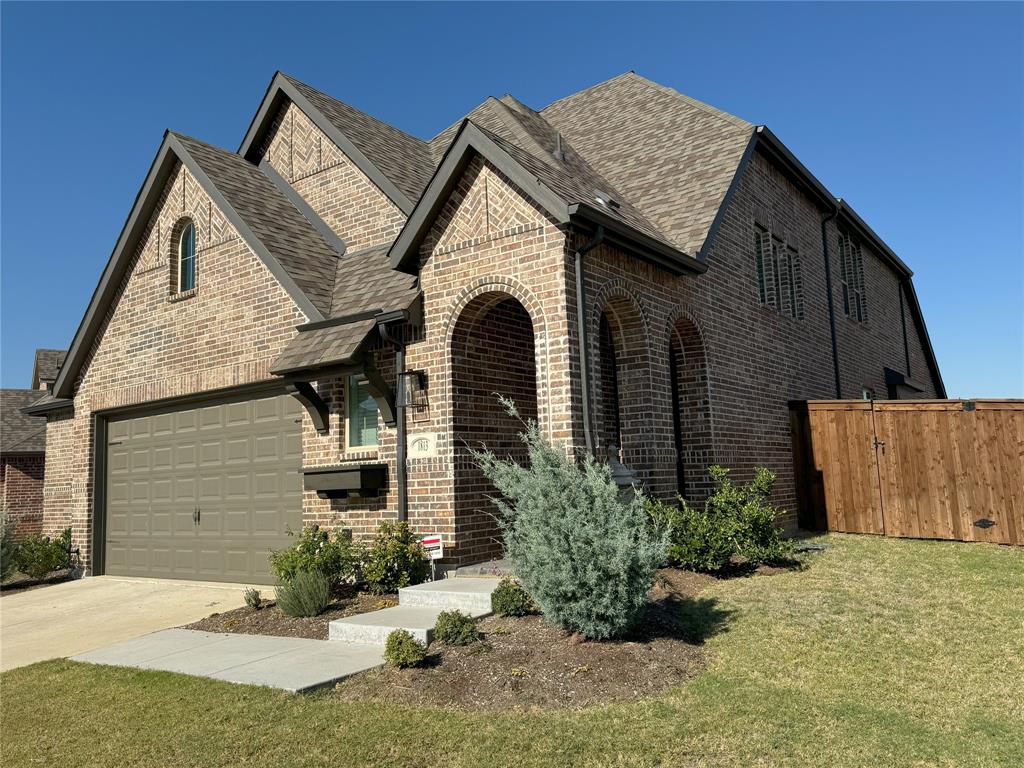
[[[46,662],[0,677],[0,762],[84,766],[1021,766],[1024,551],[828,537],[715,584],[699,677],[508,715],[344,703]]]

